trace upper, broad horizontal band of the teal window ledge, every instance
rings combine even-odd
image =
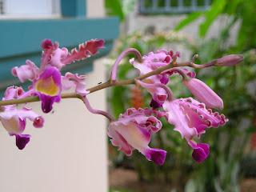
[[[40,43],[45,38],[66,47],[91,38],[118,38],[118,28],[116,17],[0,21],[0,58],[42,50]]]

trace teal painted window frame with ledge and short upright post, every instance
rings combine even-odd
[[[18,85],[18,78],[10,74],[14,66],[22,66],[26,59],[40,64],[45,38],[57,41],[69,50],[92,38],[103,38],[106,49],[86,60],[63,68],[84,74],[92,70],[92,62],[110,52],[118,38],[119,21],[116,17],[86,18],[86,0],[61,0],[62,19],[0,20],[0,92],[6,86]]]

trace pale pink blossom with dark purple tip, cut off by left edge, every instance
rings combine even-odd
[[[20,87],[9,87],[5,92],[3,101],[22,98],[26,95],[26,92]],[[10,136],[16,137],[16,146],[22,150],[26,144],[30,141],[29,134],[22,134],[26,127],[26,118],[33,122],[33,126],[41,128],[44,123],[44,118],[41,115],[34,113],[32,109],[26,108],[18,110],[14,107],[15,105],[0,106],[0,121],[2,126],[8,131]]]

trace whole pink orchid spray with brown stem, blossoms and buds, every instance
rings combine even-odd
[[[138,150],[149,161],[162,165],[166,158],[166,151],[151,148],[150,138],[153,132],[162,128],[163,118],[174,125],[182,138],[194,151],[192,157],[196,162],[202,162],[209,155],[210,146],[206,143],[198,143],[196,138],[205,134],[206,128],[224,125],[228,119],[224,114],[218,114],[214,110],[222,110],[222,98],[215,94],[206,83],[195,78],[194,72],[188,72],[184,67],[205,68],[210,66],[233,66],[242,62],[242,55],[228,55],[218,58],[206,64],[197,65],[194,63],[198,55],[188,62],[177,62],[181,57],[179,52],[174,54],[173,50],[158,50],[156,53],[143,56],[134,48],[124,50],[114,62],[110,79],[98,86],[86,89],[86,75],[66,73],[61,74],[62,67],[70,65],[74,61],[85,59],[98,53],[104,48],[104,40],[92,39],[79,45],[79,49],[68,52],[66,48],[59,48],[58,42],[51,42],[49,39],[42,41],[42,60],[40,66],[36,66],[30,60],[26,65],[16,66],[11,73],[18,77],[21,82],[29,80],[31,86],[28,91],[22,87],[10,86],[6,89],[4,98],[0,102],[0,121],[10,136],[16,137],[16,146],[22,150],[30,142],[29,134],[22,134],[26,128],[26,119],[34,122],[34,127],[40,128],[45,122],[41,114],[36,114],[30,108],[24,106],[17,109],[20,103],[38,102],[42,103],[42,112],[49,113],[54,102],[61,102],[64,98],[78,98],[85,104],[86,108],[93,114],[102,114],[109,119],[108,135],[118,150],[131,155],[133,150]],[[117,77],[118,63],[129,53],[135,54],[130,59],[130,64],[137,70],[137,78],[119,81]],[[71,64],[72,65],[72,64]],[[182,83],[186,86],[194,98],[175,98],[167,83],[171,76],[179,74],[182,76]],[[148,108],[130,108],[115,119],[106,111],[95,110],[90,106],[86,98],[87,94],[105,89],[110,86],[126,86],[136,84],[142,86],[151,95],[152,101]],[[74,93],[62,94],[62,90],[74,88]],[[214,109],[214,110],[213,110]]]

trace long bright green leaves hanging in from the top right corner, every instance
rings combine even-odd
[[[253,17],[256,11],[256,2],[251,0],[214,0],[212,6],[204,14],[191,13],[182,22],[176,26],[176,30],[181,30],[190,22],[199,16],[203,16],[205,19],[199,26],[199,37],[205,37],[212,23],[220,15],[230,15],[235,20],[240,20],[241,27],[238,33],[238,46],[240,50],[248,50],[256,44],[256,38],[254,38],[256,17]]]

